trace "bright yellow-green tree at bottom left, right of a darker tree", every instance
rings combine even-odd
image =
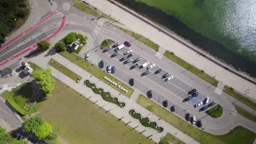
[[[51,134],[51,129],[53,129],[53,126],[48,122],[44,122],[34,134],[36,134],[39,140],[45,140]]]

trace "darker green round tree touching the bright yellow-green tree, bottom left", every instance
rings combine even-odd
[[[31,117],[23,124],[22,130],[27,133],[36,133],[43,123],[44,121],[40,117]]]

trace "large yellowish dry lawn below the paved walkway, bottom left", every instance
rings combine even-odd
[[[72,144],[154,143],[59,80],[37,116],[58,128]]]

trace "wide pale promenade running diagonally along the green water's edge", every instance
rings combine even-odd
[[[130,12],[127,13],[123,9],[119,8],[119,6],[117,7],[117,5],[119,5],[117,3],[112,4],[109,1],[101,0],[87,0],[87,2],[94,5],[97,9],[103,11],[103,13],[111,15],[116,20],[120,19],[120,22],[125,26],[130,27],[133,32],[142,34],[144,37],[149,38],[164,49],[174,52],[175,55],[181,57],[185,61],[196,64],[197,68],[205,70],[206,73],[211,76],[215,76],[218,81],[223,81],[225,85],[237,89],[237,91],[240,92],[250,89],[248,96],[256,99],[256,95],[254,94],[256,93],[256,88],[253,83],[248,82],[234,73],[221,68],[218,64],[210,61],[210,59],[198,56],[195,51],[190,49],[190,47],[194,47],[191,44],[186,42],[181,43],[182,40],[177,38],[175,35],[172,35],[172,38],[168,37],[165,33],[159,32],[159,29],[156,29],[144,22],[145,20],[143,17],[135,17],[131,14],[133,13],[131,10],[129,10]]]

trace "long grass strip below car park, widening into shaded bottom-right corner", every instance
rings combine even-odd
[[[143,107],[149,107],[150,111],[154,113],[156,116],[164,119],[164,121],[170,123],[173,125],[173,127],[176,127],[177,129],[183,131],[183,133],[191,136],[193,139],[200,143],[232,143],[232,144],[240,144],[240,143],[253,143],[253,141],[256,138],[256,135],[243,127],[236,127],[236,131],[232,130],[230,133],[226,135],[211,135],[209,133],[206,133],[205,131],[201,131],[193,126],[191,124],[185,122],[183,119],[175,116],[170,111],[167,111],[163,107],[159,106],[158,104],[155,104],[153,101],[149,100],[148,98],[144,97],[143,95],[140,95],[137,103]]]

